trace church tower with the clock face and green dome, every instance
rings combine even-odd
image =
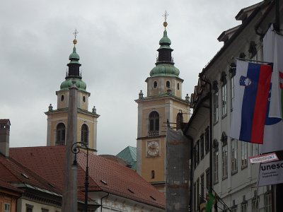
[[[163,25],[156,66],[146,78],[147,96],[141,91],[135,100],[138,104],[137,172],[161,192],[165,192],[166,122],[180,129],[188,121],[190,110],[188,95],[182,99],[183,79],[179,78],[180,71],[171,57],[173,49],[167,37],[167,22]]]

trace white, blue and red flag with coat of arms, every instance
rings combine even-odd
[[[263,143],[272,66],[237,61],[230,136]]]

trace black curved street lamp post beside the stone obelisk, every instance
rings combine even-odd
[[[80,145],[79,145],[80,144]],[[84,211],[88,211],[88,144],[85,142],[76,142],[71,146],[71,152],[75,154],[73,165],[77,165],[76,155],[79,153],[80,148],[86,149],[86,177],[84,181],[85,193],[84,193]]]

